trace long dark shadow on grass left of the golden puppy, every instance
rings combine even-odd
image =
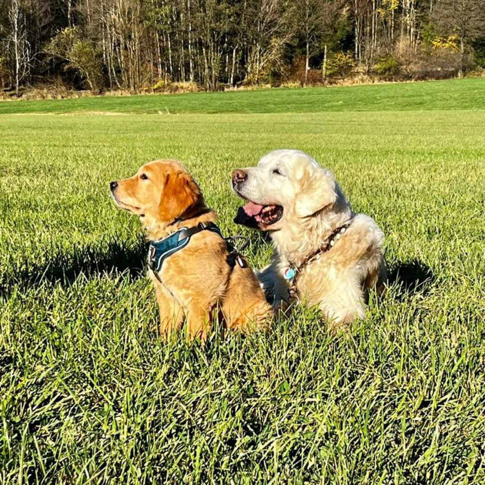
[[[42,258],[42,263],[26,258],[18,267],[12,264],[7,269],[0,280],[0,297],[8,297],[14,288],[25,290],[45,282],[69,287],[80,275],[89,279],[124,274],[135,280],[145,274],[146,255],[144,240],[134,244],[116,240],[58,249],[53,256]]]

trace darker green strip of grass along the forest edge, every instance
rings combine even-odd
[[[484,110],[483,78],[184,95],[0,102],[0,113],[318,113]]]

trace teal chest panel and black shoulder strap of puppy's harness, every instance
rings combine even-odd
[[[150,241],[148,249],[148,267],[158,278],[158,272],[162,269],[163,261],[184,248],[190,242],[190,239],[194,234],[205,230],[215,232],[223,237],[221,230],[214,223],[210,222],[204,224],[201,222],[195,227],[182,227],[173,234],[170,234],[170,236],[159,239],[158,241]]]

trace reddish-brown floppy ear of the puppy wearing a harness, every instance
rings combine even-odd
[[[160,219],[171,221],[180,217],[199,201],[201,195],[198,185],[189,174],[168,174],[159,205]]]

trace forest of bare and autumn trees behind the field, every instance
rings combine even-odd
[[[485,72],[485,0],[0,0],[0,97]]]

